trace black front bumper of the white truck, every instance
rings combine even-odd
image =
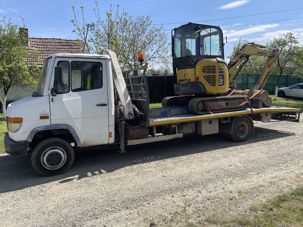
[[[26,155],[29,142],[15,142],[9,138],[8,134],[4,136],[4,148],[6,153],[12,156],[23,156]]]

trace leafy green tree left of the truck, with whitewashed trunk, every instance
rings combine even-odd
[[[23,18],[22,18],[23,20]],[[25,28],[23,22],[23,28]],[[6,117],[6,98],[8,90],[12,87],[27,86],[34,87],[40,69],[36,64],[29,64],[26,59],[38,60],[38,53],[31,52],[25,48],[24,33],[19,32],[19,26],[13,25],[11,19],[5,21],[5,17],[0,21],[0,83],[4,93],[0,96],[3,109],[3,118]]]

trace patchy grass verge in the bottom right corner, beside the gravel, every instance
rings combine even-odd
[[[175,212],[164,226],[224,226],[224,227],[274,227],[303,226],[303,187],[274,196],[266,202],[253,203],[247,212],[226,216],[220,212],[201,218],[203,211],[186,209]],[[160,226],[153,223],[153,226]]]

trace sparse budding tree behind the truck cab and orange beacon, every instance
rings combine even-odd
[[[87,28],[83,6],[81,6],[82,22],[77,19],[75,6],[72,6],[74,19],[72,20],[76,32],[83,41],[87,41],[89,51],[96,54],[103,54],[103,49],[115,51],[122,70],[139,66],[137,61],[138,52],[142,51],[145,61],[149,66],[162,63],[162,58],[168,55],[170,45],[167,34],[162,26],[153,25],[151,15],[138,16],[133,18],[124,10],[119,12],[119,5],[115,12],[110,5],[106,11],[105,20],[100,12],[98,2],[93,12],[96,21],[91,22],[94,30],[86,38]]]

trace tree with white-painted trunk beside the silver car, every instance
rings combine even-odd
[[[267,45],[271,48],[278,48],[278,60],[273,71],[277,73],[275,99],[278,96],[278,85],[282,74],[294,73],[297,70],[298,58],[302,48],[298,46],[298,38],[291,32],[282,34],[279,38],[268,40]]]

